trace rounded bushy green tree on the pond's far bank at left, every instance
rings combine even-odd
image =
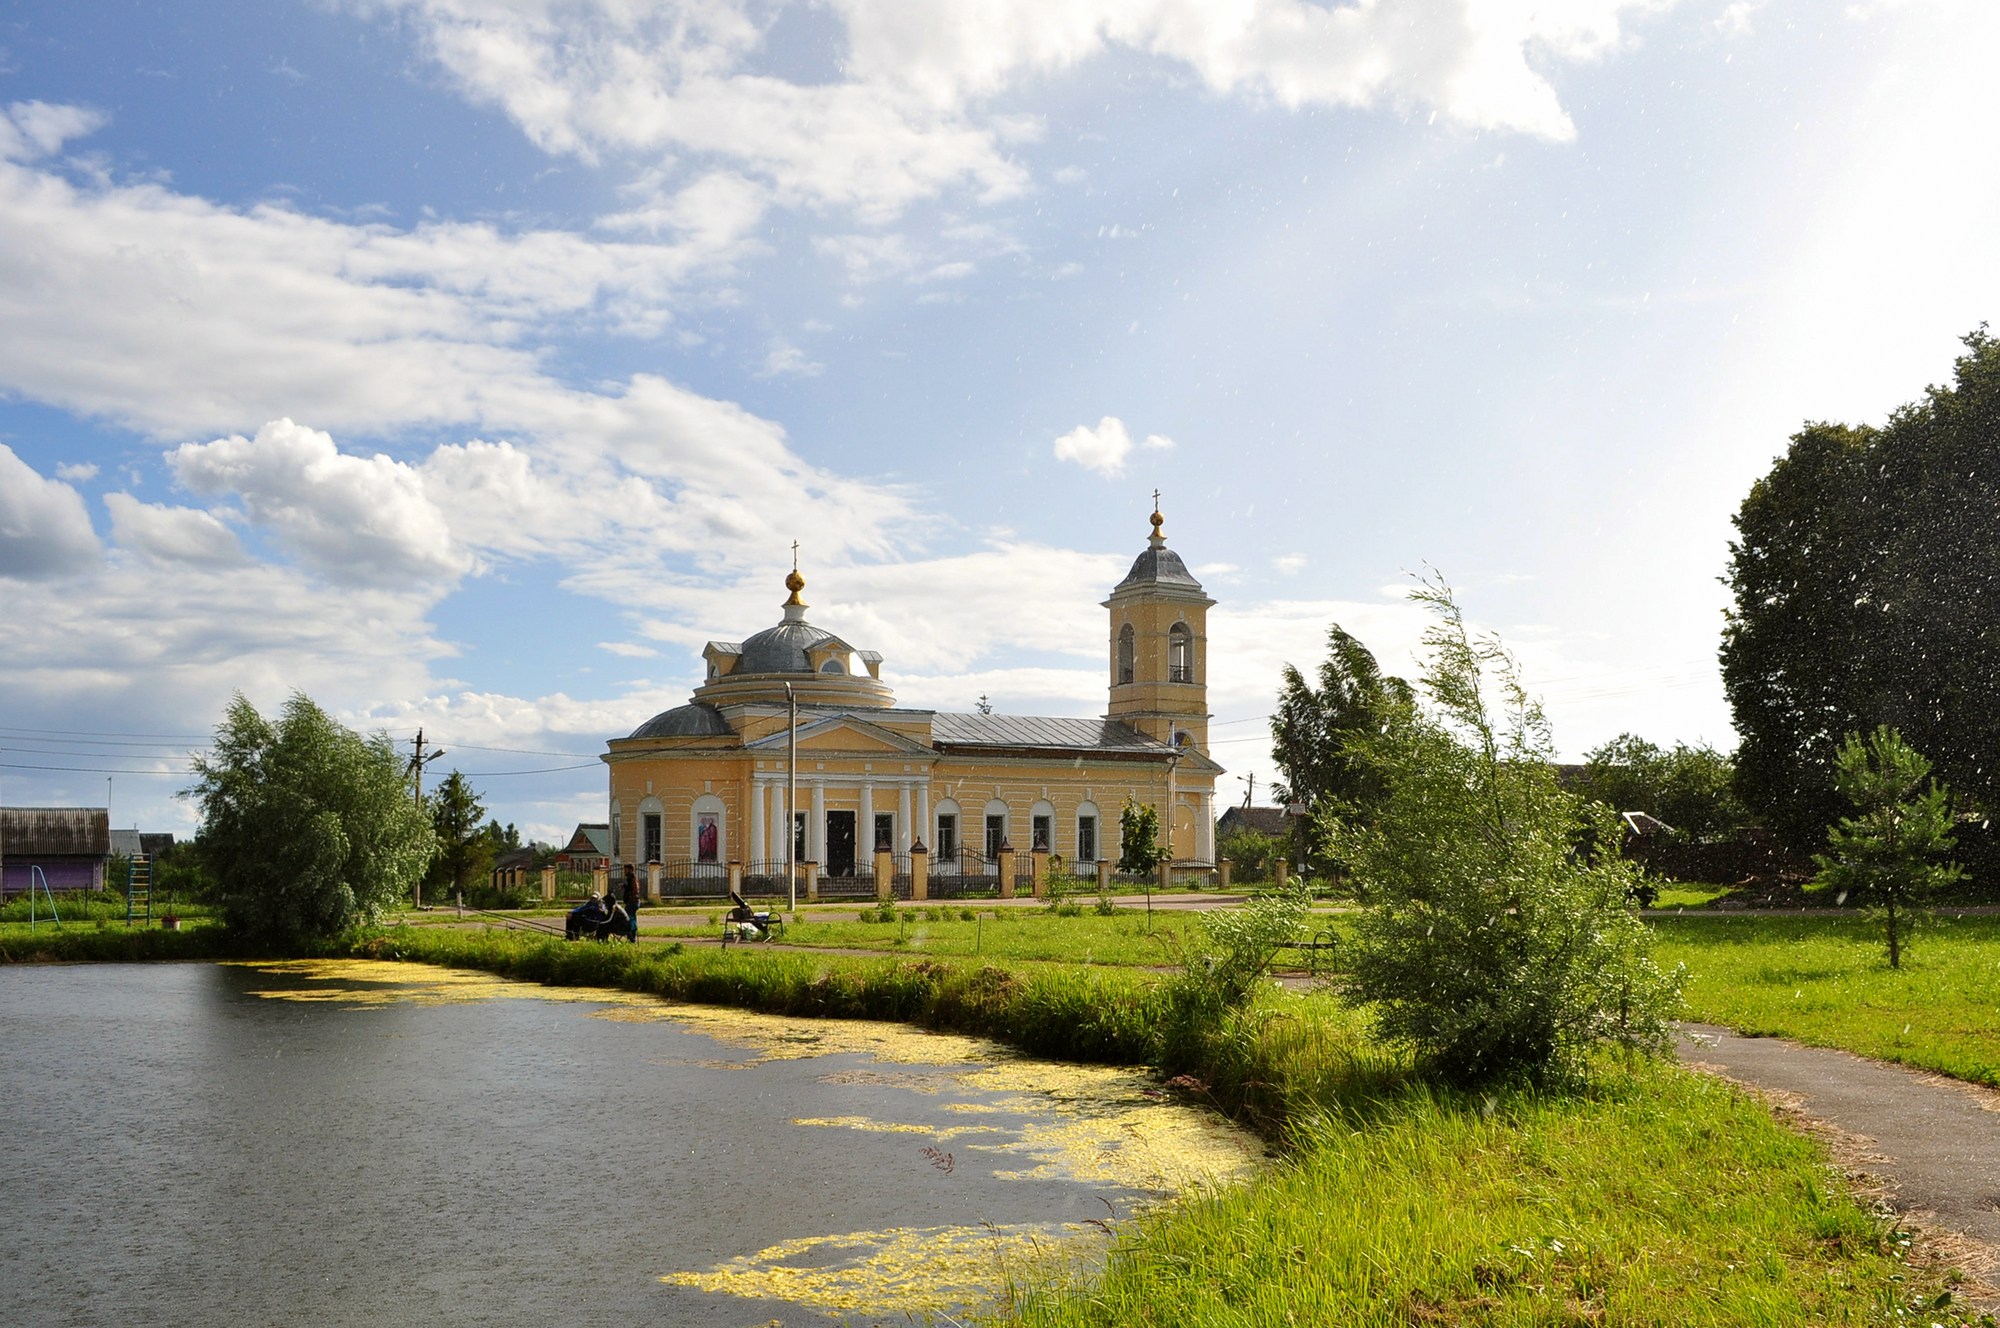
[[[264,944],[334,936],[406,898],[430,818],[388,734],[362,738],[294,692],[270,722],[238,694],[186,790],[230,928]]]

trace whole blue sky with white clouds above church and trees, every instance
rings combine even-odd
[[[906,704],[1096,714],[1156,486],[1232,778],[1330,622],[1414,668],[1426,564],[1562,752],[1730,746],[1736,504],[2000,310],[1996,54],[1974,0],[18,4],[0,798],[186,830],[296,688],[556,838],[794,538]]]

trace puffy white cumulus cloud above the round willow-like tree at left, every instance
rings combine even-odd
[[[182,444],[170,462],[190,490],[240,498],[328,580],[426,584],[472,570],[420,470],[382,454],[348,456],[320,430],[272,420],[256,438]]]

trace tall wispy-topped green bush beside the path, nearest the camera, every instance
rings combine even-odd
[[[1616,814],[1558,786],[1540,706],[1450,588],[1412,598],[1436,616],[1422,696],[1356,744],[1384,788],[1372,820],[1330,826],[1364,904],[1344,992],[1460,1084],[1574,1082],[1594,1046],[1664,1050],[1678,974],[1646,952],[1638,868],[1580,846],[1580,826],[1618,844]]]

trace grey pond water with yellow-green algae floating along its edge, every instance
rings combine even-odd
[[[1122,1070],[416,964],[0,968],[0,1020],[8,1324],[930,1322],[1260,1158]]]

